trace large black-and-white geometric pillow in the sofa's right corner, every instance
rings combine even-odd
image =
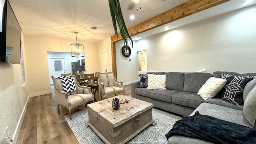
[[[247,82],[253,79],[252,76],[231,76],[221,74],[221,78],[227,82],[222,90],[218,93],[218,98],[231,102],[237,106],[243,103],[243,92]]]

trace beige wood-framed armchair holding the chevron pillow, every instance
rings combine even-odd
[[[64,92],[60,78],[54,78],[53,76],[51,77],[54,82],[54,91],[56,102],[58,105],[58,114],[60,114],[60,106],[67,108],[69,111],[69,118],[70,120],[72,120],[72,108],[81,104],[86,104],[90,101],[94,102],[94,95],[91,92],[91,88],[86,86],[80,86],[78,84],[78,81],[76,80],[76,76],[72,76],[76,85],[76,90],[73,92]]]

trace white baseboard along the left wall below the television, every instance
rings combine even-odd
[[[17,124],[16,130],[14,131],[14,134],[12,136],[13,144],[16,144],[16,142],[18,140],[18,136],[19,136],[19,133],[20,133],[20,128],[21,128],[22,122],[24,120],[24,116],[26,114],[26,110],[27,110],[27,107],[28,107],[29,99],[30,99],[30,96],[28,96],[28,99],[27,99],[26,104],[25,104],[25,106],[23,108],[22,114],[20,116],[19,122]]]

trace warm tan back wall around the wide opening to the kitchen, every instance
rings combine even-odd
[[[35,36],[24,36],[26,43],[26,72],[28,92],[31,96],[51,93],[50,78],[47,61],[47,51],[70,52],[70,44],[74,40],[60,40]],[[84,44],[86,72],[94,73],[98,70],[98,48],[96,43],[82,42]],[[43,86],[45,88],[43,89]]]

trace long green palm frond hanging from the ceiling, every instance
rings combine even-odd
[[[122,10],[120,7],[119,0],[108,0],[108,4],[109,4],[110,14],[112,17],[113,27],[114,27],[114,31],[115,31],[115,35],[117,36],[117,39],[118,39],[118,33],[117,33],[116,23],[118,24],[120,34],[122,36],[124,44],[126,44],[126,46],[128,46],[128,40],[127,40],[127,37],[128,37],[131,40],[132,47],[133,47],[132,38],[131,38],[131,36],[126,28],[126,25],[124,23],[124,18],[122,15]]]

